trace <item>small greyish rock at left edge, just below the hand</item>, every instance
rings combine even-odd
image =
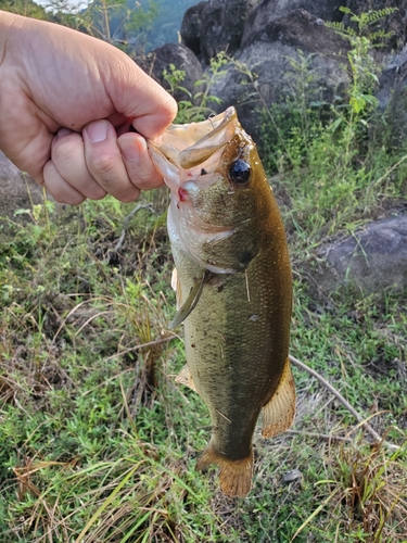
[[[31,209],[31,201],[34,204],[42,203],[42,188],[14,166],[1,151],[0,190],[0,219],[2,217],[14,219],[16,210]]]

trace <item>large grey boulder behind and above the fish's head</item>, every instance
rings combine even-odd
[[[245,130],[257,143],[259,109],[284,104],[292,97],[295,80],[305,77],[295,71],[293,62],[307,63],[307,102],[331,102],[348,86],[344,68],[347,41],[320,24],[309,12],[298,9],[263,26],[262,31],[247,34],[245,47],[234,55],[238,65],[226,66],[226,73],[215,80],[209,94],[222,99],[221,105],[211,104],[216,111],[236,105]],[[304,52],[301,60],[298,50]],[[239,63],[255,75],[255,86],[247,85],[247,75]]]

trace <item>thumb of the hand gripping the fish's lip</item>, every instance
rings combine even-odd
[[[156,138],[177,115],[177,102],[164,88],[145,74],[129,56],[120,53],[120,62],[110,66],[105,88],[114,108],[145,138]]]

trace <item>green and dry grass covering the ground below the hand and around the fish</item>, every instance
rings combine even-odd
[[[174,383],[183,351],[167,329],[167,197],[144,198],[154,213],[135,214],[117,250],[133,206],[110,199],[3,222],[2,542],[405,541],[407,295],[323,303],[301,279],[293,243],[293,354],[400,449],[369,444],[294,369],[297,433],[256,432],[253,490],[227,498],[214,470],[194,471],[211,422],[196,394]]]

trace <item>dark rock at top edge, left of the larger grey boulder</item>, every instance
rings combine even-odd
[[[220,51],[232,55],[240,47],[247,14],[258,0],[208,0],[187,10],[181,38],[202,60]]]

